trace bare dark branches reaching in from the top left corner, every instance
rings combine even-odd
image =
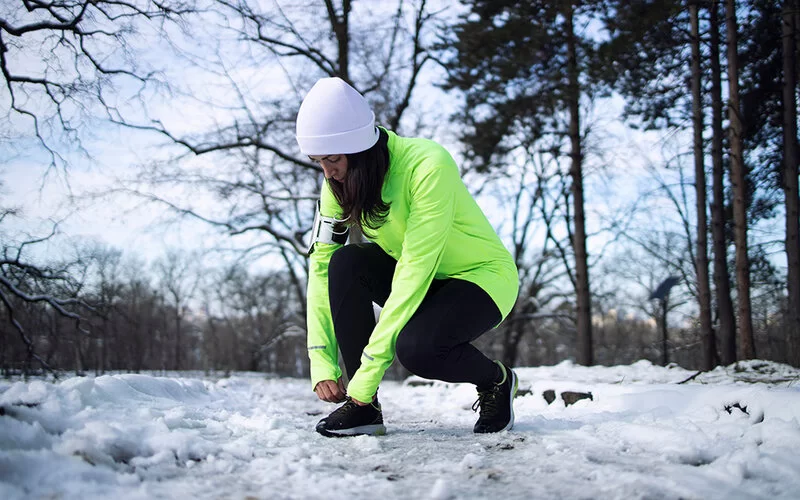
[[[135,40],[144,36],[146,23],[156,30],[174,25],[191,11],[190,2],[5,2],[0,9],[5,84],[0,99],[9,104],[9,123],[14,128],[18,122],[29,124],[51,166],[65,167],[63,150],[81,146],[82,129],[93,119],[124,122],[126,101],[144,100],[167,85],[154,68],[134,57]]]

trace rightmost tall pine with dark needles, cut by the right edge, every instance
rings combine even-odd
[[[784,322],[794,362],[800,340],[800,239],[797,194],[797,0],[749,0],[740,31],[741,106],[752,223],[784,205],[788,301]],[[782,4],[782,5],[781,5]],[[776,29],[781,26],[781,29]],[[752,255],[751,251],[751,255]],[[755,257],[759,257],[756,254]],[[755,266],[751,264],[751,268]]]

